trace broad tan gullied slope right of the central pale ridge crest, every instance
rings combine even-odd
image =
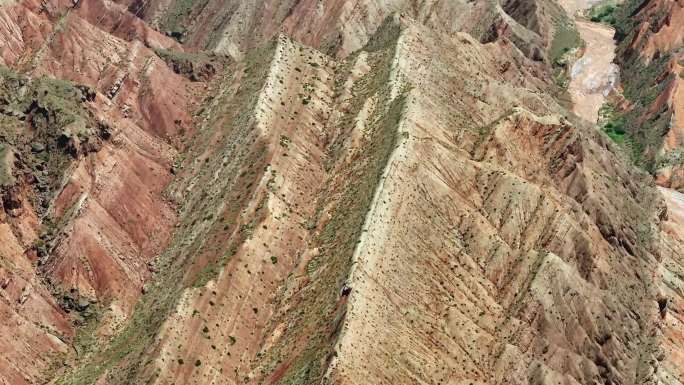
[[[411,46],[417,36],[426,53],[440,45],[429,35],[409,29],[401,40],[416,62],[434,57]],[[450,58],[477,52],[444,49],[459,53]],[[514,108],[524,94],[496,87],[496,72],[491,94],[481,95],[492,115],[470,115],[480,132],[440,119],[449,115],[436,111],[450,104],[420,91],[439,87],[444,74],[432,71],[445,64],[421,72],[400,62],[409,81],[435,83],[409,96],[400,126],[408,140],[389,160],[357,246],[332,382],[645,378],[659,317],[650,279],[657,239],[643,228],[654,213],[639,202],[656,194],[624,181],[647,179],[607,162],[603,138]],[[445,94],[463,100],[462,88]],[[530,103],[537,114],[553,112],[552,102],[539,102]],[[620,203],[607,199],[613,194]]]

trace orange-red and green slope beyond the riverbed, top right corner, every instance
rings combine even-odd
[[[616,21],[625,131],[637,161],[674,189],[682,187],[682,18],[680,2],[629,1]]]

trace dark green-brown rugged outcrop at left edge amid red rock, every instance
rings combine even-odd
[[[71,162],[99,149],[109,137],[108,127],[85,105],[94,97],[86,86],[29,79],[0,66],[0,185],[14,183],[19,161],[37,179],[39,194],[33,204],[42,213]]]

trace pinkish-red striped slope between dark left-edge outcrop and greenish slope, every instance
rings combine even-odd
[[[97,29],[71,6],[55,5],[48,14],[31,7],[16,4],[3,11],[17,24],[24,18],[55,20],[54,30],[36,49],[15,51],[21,55],[6,64],[31,76],[49,74],[91,87],[89,107],[109,125],[108,143],[78,159],[55,186],[48,216],[57,226],[44,235],[51,254],[45,269],[89,298],[113,290],[110,298],[130,308],[146,261],[126,260],[154,256],[173,223],[172,209],[161,199],[174,156],[165,141],[189,120],[182,107],[191,100],[186,81],[151,50]],[[176,79],[176,86],[161,87],[168,78]],[[153,229],[157,238],[149,237]]]

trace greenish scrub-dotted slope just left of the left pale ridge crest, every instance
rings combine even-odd
[[[216,101],[207,102],[200,119],[210,119],[204,121],[200,134],[188,143],[188,156],[184,160],[183,168],[193,172],[169,187],[183,191],[187,184],[197,183],[203,188],[193,189],[186,195],[179,209],[177,231],[169,247],[157,259],[158,272],[154,282],[140,298],[131,320],[105,343],[94,342],[88,359],[65,373],[57,384],[92,384],[105,371],[109,373],[111,384],[139,382],[139,376],[145,375],[150,364],[141,357],[155,343],[159,328],[175,309],[184,290],[203,287],[237,252],[245,235],[235,230],[244,207],[252,199],[251,193],[256,188],[254,180],[261,176],[257,171],[265,168],[264,144],[253,140],[253,116],[257,113],[258,90],[266,80],[274,48],[275,43],[271,42],[253,50],[240,64],[248,71],[244,72],[237,91],[222,93],[217,87]],[[226,80],[230,81],[230,78]],[[214,152],[209,160],[200,160],[197,154],[207,149],[217,130],[222,131],[223,143],[212,143]],[[225,157],[227,153],[229,158]],[[214,178],[216,170],[220,171],[220,178]],[[225,205],[219,205],[219,202],[225,202]],[[225,208],[217,213],[217,207]],[[210,220],[202,220],[210,212],[216,215]],[[250,214],[249,217],[258,220],[260,215]],[[228,230],[224,228],[226,224],[229,224]],[[201,315],[193,311],[193,316]]]

